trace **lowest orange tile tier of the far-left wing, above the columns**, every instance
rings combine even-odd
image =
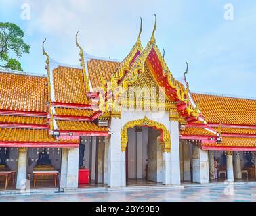
[[[0,128],[0,141],[14,142],[55,142],[48,130]]]

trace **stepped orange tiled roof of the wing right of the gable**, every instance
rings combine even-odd
[[[219,150],[255,150],[256,100],[210,94],[192,94],[200,103],[207,126],[221,135],[221,142],[205,142],[213,135],[200,124],[189,124],[180,133],[184,139],[202,140],[202,148]]]

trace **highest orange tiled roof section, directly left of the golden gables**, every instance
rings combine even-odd
[[[102,86],[100,81],[101,76],[103,75],[104,80],[109,81],[111,75],[116,72],[119,68],[119,62],[113,61],[104,61],[98,59],[91,59],[87,62],[89,80],[91,82],[92,88],[97,88]]]

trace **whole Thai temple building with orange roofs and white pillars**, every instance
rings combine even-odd
[[[256,100],[190,92],[155,31],[123,61],[77,40],[58,63],[44,41],[45,75],[0,70],[1,190],[255,180]]]

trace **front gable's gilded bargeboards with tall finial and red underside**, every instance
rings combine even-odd
[[[164,57],[161,55],[161,51],[156,45],[156,39],[154,33],[156,31],[156,15],[154,29],[150,41],[146,45],[144,51],[135,59],[131,68],[125,78],[123,78],[121,84],[123,88],[127,89],[133,82],[135,82],[140,73],[145,70],[145,63],[151,69],[152,75],[158,82],[160,87],[165,88],[165,95],[169,101],[173,101],[177,104],[177,111],[179,114],[186,118],[187,121],[197,121],[200,117],[200,110],[194,106],[190,101],[188,86],[185,89],[183,84],[175,80]]]

